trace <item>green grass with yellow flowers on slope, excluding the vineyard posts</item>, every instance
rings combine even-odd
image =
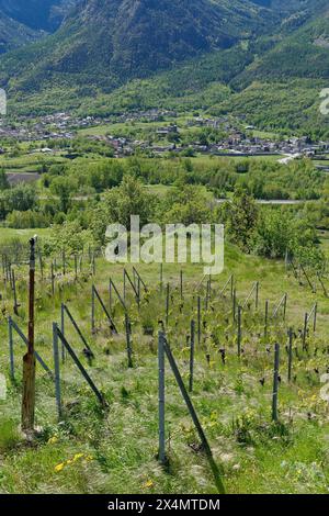
[[[148,284],[157,288],[158,268],[140,266],[139,270]],[[226,270],[213,287],[223,285],[229,271],[237,277],[239,299],[245,299],[251,282],[261,280],[261,304],[271,301],[271,306],[284,291],[290,292],[288,322],[296,328],[302,326],[303,314],[315,301],[306,288],[298,288],[293,278],[286,277],[281,262],[271,262],[254,257],[243,257],[235,248],[226,253]],[[24,299],[23,277],[26,270],[18,272],[20,299]],[[122,268],[98,261],[95,284],[106,300],[109,276],[122,285]],[[192,292],[202,277],[202,268],[189,266],[185,274],[185,306],[179,316],[179,300],[170,312],[169,338],[178,359],[184,380],[188,380],[188,349],[185,338],[189,319],[192,317]],[[178,268],[164,267],[164,281],[172,288],[178,287]],[[49,287],[47,288],[49,289]],[[3,290],[3,289],[2,289]],[[45,289],[46,290],[46,289]],[[50,322],[59,319],[59,298],[55,303],[47,298],[45,290],[37,296],[36,346],[50,364],[52,336]],[[39,293],[38,288],[38,293]],[[110,412],[101,413],[97,402],[82,382],[77,369],[70,363],[64,368],[64,400],[66,420],[56,423],[54,388],[38,368],[37,372],[37,424],[43,427],[43,435],[33,448],[24,446],[16,434],[20,418],[20,355],[22,347],[16,346],[18,384],[9,384],[8,401],[0,402],[0,492],[97,492],[97,493],[209,493],[215,492],[209,469],[203,456],[195,451],[197,438],[183,406],[172,375],[167,378],[167,436],[170,433],[169,472],[163,471],[155,459],[157,452],[157,343],[156,339],[141,335],[137,310],[132,301],[131,317],[133,326],[134,369],[127,370],[125,341],[123,335],[113,338],[109,335],[103,317],[102,328],[95,336],[90,335],[90,306],[87,302],[90,282],[71,283],[64,290],[73,315],[88,335],[95,352],[94,366],[90,369],[92,378],[104,391],[110,402]],[[7,296],[9,291],[7,292]],[[164,300],[151,292],[149,304],[143,303],[140,319],[157,324],[163,317]],[[179,296],[179,294],[175,294]],[[320,316],[317,346],[324,347],[328,337],[329,303],[320,298]],[[10,306],[11,303],[2,302]],[[214,313],[205,318],[213,333],[219,333],[222,346],[226,347],[227,364],[224,367],[212,339],[196,354],[195,392],[193,402],[209,438],[214,456],[225,471],[225,483],[231,493],[291,493],[327,492],[328,485],[328,441],[327,404],[319,400],[319,380],[314,368],[324,372],[326,357],[306,358],[299,362],[296,358],[294,373],[296,383],[288,388],[286,383],[286,355],[282,350],[282,385],[280,388],[280,417],[284,431],[269,425],[272,352],[265,352],[265,343],[259,341],[257,334],[262,332],[259,316],[251,316],[243,323],[245,357],[240,363],[236,357],[236,329],[231,325],[228,310],[230,302],[214,301]],[[20,325],[26,327],[26,306],[20,309]],[[226,322],[226,312],[228,322]],[[215,314],[215,315],[214,315]],[[195,312],[194,312],[195,317]],[[115,321],[123,330],[123,313],[115,307]],[[250,326],[247,334],[247,325]],[[218,325],[218,327],[217,327]],[[276,329],[275,329],[276,327]],[[277,333],[276,333],[277,330]],[[252,336],[251,336],[252,334]],[[271,330],[273,343],[276,338],[285,343],[282,330],[274,323]],[[4,319],[0,323],[0,335],[7,341]],[[81,346],[76,335],[67,326],[69,340],[76,350]],[[225,335],[227,343],[225,344]],[[315,341],[311,337],[310,350]],[[298,343],[300,348],[300,344]],[[0,357],[1,371],[7,372],[8,355]],[[21,351],[19,351],[19,349]],[[258,350],[258,351],[257,351]],[[211,363],[205,354],[211,355]],[[80,358],[84,361],[82,354]],[[308,375],[305,367],[309,370]],[[262,388],[259,380],[264,377]],[[311,420],[308,420],[307,414]],[[240,429],[234,431],[232,420],[240,420]],[[291,423],[290,423],[291,417]],[[50,439],[50,440],[49,440]],[[169,445],[168,445],[169,446]],[[194,449],[194,451],[193,451]],[[79,455],[83,453],[82,457]],[[55,471],[56,465],[63,470]],[[61,468],[61,465],[60,465]]]

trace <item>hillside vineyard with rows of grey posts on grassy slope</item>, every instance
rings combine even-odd
[[[326,493],[326,288],[286,260],[36,250],[36,427],[20,430],[29,248],[3,249],[1,493]]]

